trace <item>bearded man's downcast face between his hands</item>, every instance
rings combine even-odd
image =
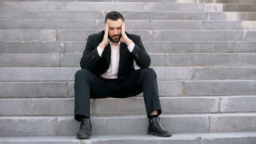
[[[121,38],[121,29],[122,29],[122,24],[123,24],[123,20],[122,19],[118,19],[116,21],[107,19],[107,23],[108,23],[108,38],[113,42],[113,43],[117,43],[119,42],[120,38]]]

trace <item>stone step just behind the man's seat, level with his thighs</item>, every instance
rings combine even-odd
[[[74,97],[74,82],[1,82],[0,86],[0,98]],[[160,96],[256,95],[256,81],[158,81],[158,89]],[[139,94],[138,97],[143,97],[142,95]]]

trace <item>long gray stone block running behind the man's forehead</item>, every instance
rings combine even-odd
[[[102,29],[104,23],[104,20],[96,20],[96,29]],[[126,20],[125,28],[137,30],[202,30],[203,21]]]

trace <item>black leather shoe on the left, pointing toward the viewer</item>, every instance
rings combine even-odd
[[[80,123],[80,129],[77,133],[77,139],[90,139],[91,129],[91,119],[83,118]]]

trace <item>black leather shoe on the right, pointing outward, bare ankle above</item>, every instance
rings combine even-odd
[[[162,127],[160,117],[149,118],[148,134],[162,137],[172,135],[170,131],[167,131]]]

